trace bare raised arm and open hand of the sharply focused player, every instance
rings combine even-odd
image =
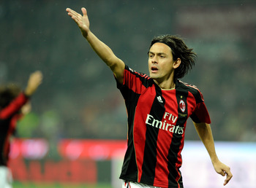
[[[97,38],[97,36],[91,33],[89,28],[89,18],[86,9],[81,9],[83,12],[83,16],[72,9],[67,8],[66,10],[68,12],[68,15],[72,17],[75,23],[78,24],[80,31],[89,42],[92,49],[97,53],[97,55],[99,55],[99,58],[101,58],[107,64],[107,66],[110,67],[118,82],[122,83],[124,80],[124,62],[116,57],[110,47],[101,42]]]

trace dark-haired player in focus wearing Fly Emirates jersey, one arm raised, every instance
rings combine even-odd
[[[129,68],[97,39],[83,15],[67,8],[92,49],[110,67],[124,97],[128,115],[127,152],[121,170],[123,187],[183,187],[181,150],[188,117],[206,146],[215,171],[232,178],[230,168],[219,161],[214,148],[210,117],[197,87],[179,79],[195,63],[195,52],[178,36],[157,36],[148,51],[149,76]]]

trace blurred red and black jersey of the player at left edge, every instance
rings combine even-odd
[[[7,165],[8,155],[10,152],[10,136],[15,131],[17,120],[20,118],[21,107],[29,98],[20,93],[8,106],[0,109],[0,165]]]

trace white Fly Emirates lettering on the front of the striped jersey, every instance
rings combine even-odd
[[[177,119],[178,117],[173,116],[173,114],[167,112],[165,112],[163,121],[156,120],[152,115],[148,114],[146,118],[146,125],[170,131],[170,133],[182,135],[184,133],[184,128],[176,125]]]

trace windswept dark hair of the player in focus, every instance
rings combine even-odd
[[[150,47],[161,42],[166,44],[172,50],[173,60],[181,59],[181,65],[174,70],[174,79],[179,79],[185,76],[195,65],[195,58],[197,57],[195,52],[192,52],[192,48],[188,48],[183,39],[174,35],[161,35],[152,39]],[[150,48],[149,47],[149,48]]]

